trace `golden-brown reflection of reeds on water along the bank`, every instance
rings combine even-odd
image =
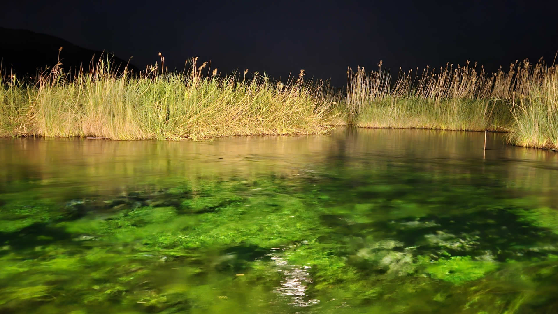
[[[436,180],[454,177],[455,184],[503,180],[542,194],[555,185],[554,171],[549,171],[558,168],[554,152],[506,148],[498,133],[488,134],[484,160],[480,132],[339,128],[330,133],[213,142],[1,139],[0,187],[8,191],[13,182],[31,182],[33,188],[58,192],[67,186],[114,194],[133,187],[222,180],[319,182],[406,172],[427,173]]]

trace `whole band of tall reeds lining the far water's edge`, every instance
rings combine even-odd
[[[348,69],[346,93],[299,78],[283,84],[247,70],[220,77],[207,63],[185,73],[140,75],[100,61],[89,73],[60,63],[23,83],[4,73],[0,136],[193,139],[322,134],[330,126],[503,131],[519,146],[558,149],[558,65],[512,63],[489,75],[477,64],[400,72]],[[208,67],[209,68],[209,67]],[[2,74],[0,73],[0,76]]]

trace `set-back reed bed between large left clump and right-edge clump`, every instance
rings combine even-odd
[[[378,65],[371,73],[360,67],[348,71],[347,98],[357,126],[496,131],[509,121],[505,102],[493,100],[493,94],[507,94],[512,84],[503,72],[488,77],[469,62],[456,68],[448,64],[438,72],[427,66],[420,77],[411,70],[391,84]]]

